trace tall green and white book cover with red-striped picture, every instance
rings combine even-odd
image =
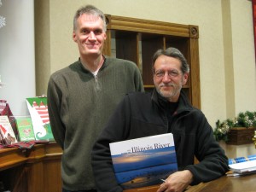
[[[54,141],[49,124],[47,97],[26,98],[26,104],[32,119],[35,139]]]

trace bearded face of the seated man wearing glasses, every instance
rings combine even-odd
[[[181,65],[181,61],[166,55],[160,55],[154,62],[154,86],[169,102],[177,102],[189,77],[189,73],[182,73]]]

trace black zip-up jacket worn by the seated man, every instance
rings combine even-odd
[[[179,170],[189,170],[193,183],[211,181],[228,171],[224,150],[212,136],[212,127],[201,110],[193,108],[183,91],[177,110],[168,115],[169,103],[159,94],[131,93],[113,113],[92,151],[96,187],[100,192],[119,192],[109,143],[172,132]],[[194,158],[200,161],[194,165]]]

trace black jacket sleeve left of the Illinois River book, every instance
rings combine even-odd
[[[119,103],[108,121],[108,125],[98,137],[92,149],[92,167],[98,192],[122,192],[116,181],[109,143],[125,140],[130,127],[130,107],[128,97]]]

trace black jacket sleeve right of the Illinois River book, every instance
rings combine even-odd
[[[201,113],[199,117],[200,125],[196,137],[195,157],[200,163],[186,166],[185,169],[192,172],[193,183],[208,182],[221,177],[229,170],[228,158],[224,154],[224,149],[219,146],[213,137],[211,125],[206,117]]]

